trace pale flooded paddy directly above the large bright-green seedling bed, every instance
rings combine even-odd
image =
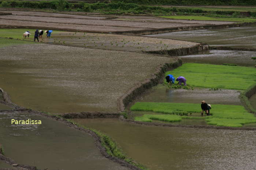
[[[220,64],[234,63],[239,66],[255,66],[255,51],[210,50],[205,54],[181,56],[183,62]]]

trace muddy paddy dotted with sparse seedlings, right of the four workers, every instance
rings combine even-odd
[[[179,48],[187,48],[199,43],[149,38],[139,36],[115,35],[115,34],[97,34],[78,32],[60,32],[60,34],[52,33],[54,38],[41,39],[42,42],[53,44],[64,44],[70,46],[92,47],[96,49],[120,50],[120,51],[156,51],[156,50],[172,50]]]

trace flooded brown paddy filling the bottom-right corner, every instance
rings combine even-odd
[[[152,170],[256,169],[255,131],[171,128],[117,119],[75,119],[110,135]]]

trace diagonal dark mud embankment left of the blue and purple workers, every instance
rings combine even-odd
[[[125,107],[129,105],[136,97],[144,93],[146,89],[149,89],[152,86],[157,85],[159,81],[162,80],[165,72],[167,72],[168,70],[175,69],[181,65],[182,60],[178,59],[176,62],[166,63],[165,65],[158,67],[157,71],[153,74],[151,78],[148,78],[140,85],[133,87],[126,94],[124,94],[118,99],[119,111],[125,111]]]

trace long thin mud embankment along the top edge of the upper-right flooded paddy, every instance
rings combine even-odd
[[[210,29],[221,29],[221,28],[233,28],[233,27],[245,27],[256,24],[256,22],[251,23],[240,23],[240,24],[221,24],[221,25],[205,25],[205,26],[186,26],[186,27],[173,27],[173,28],[159,28],[150,30],[136,30],[136,31],[116,31],[112,34],[120,35],[152,35],[152,34],[162,34],[166,32],[178,32],[178,31],[191,31],[191,30],[210,30]]]

